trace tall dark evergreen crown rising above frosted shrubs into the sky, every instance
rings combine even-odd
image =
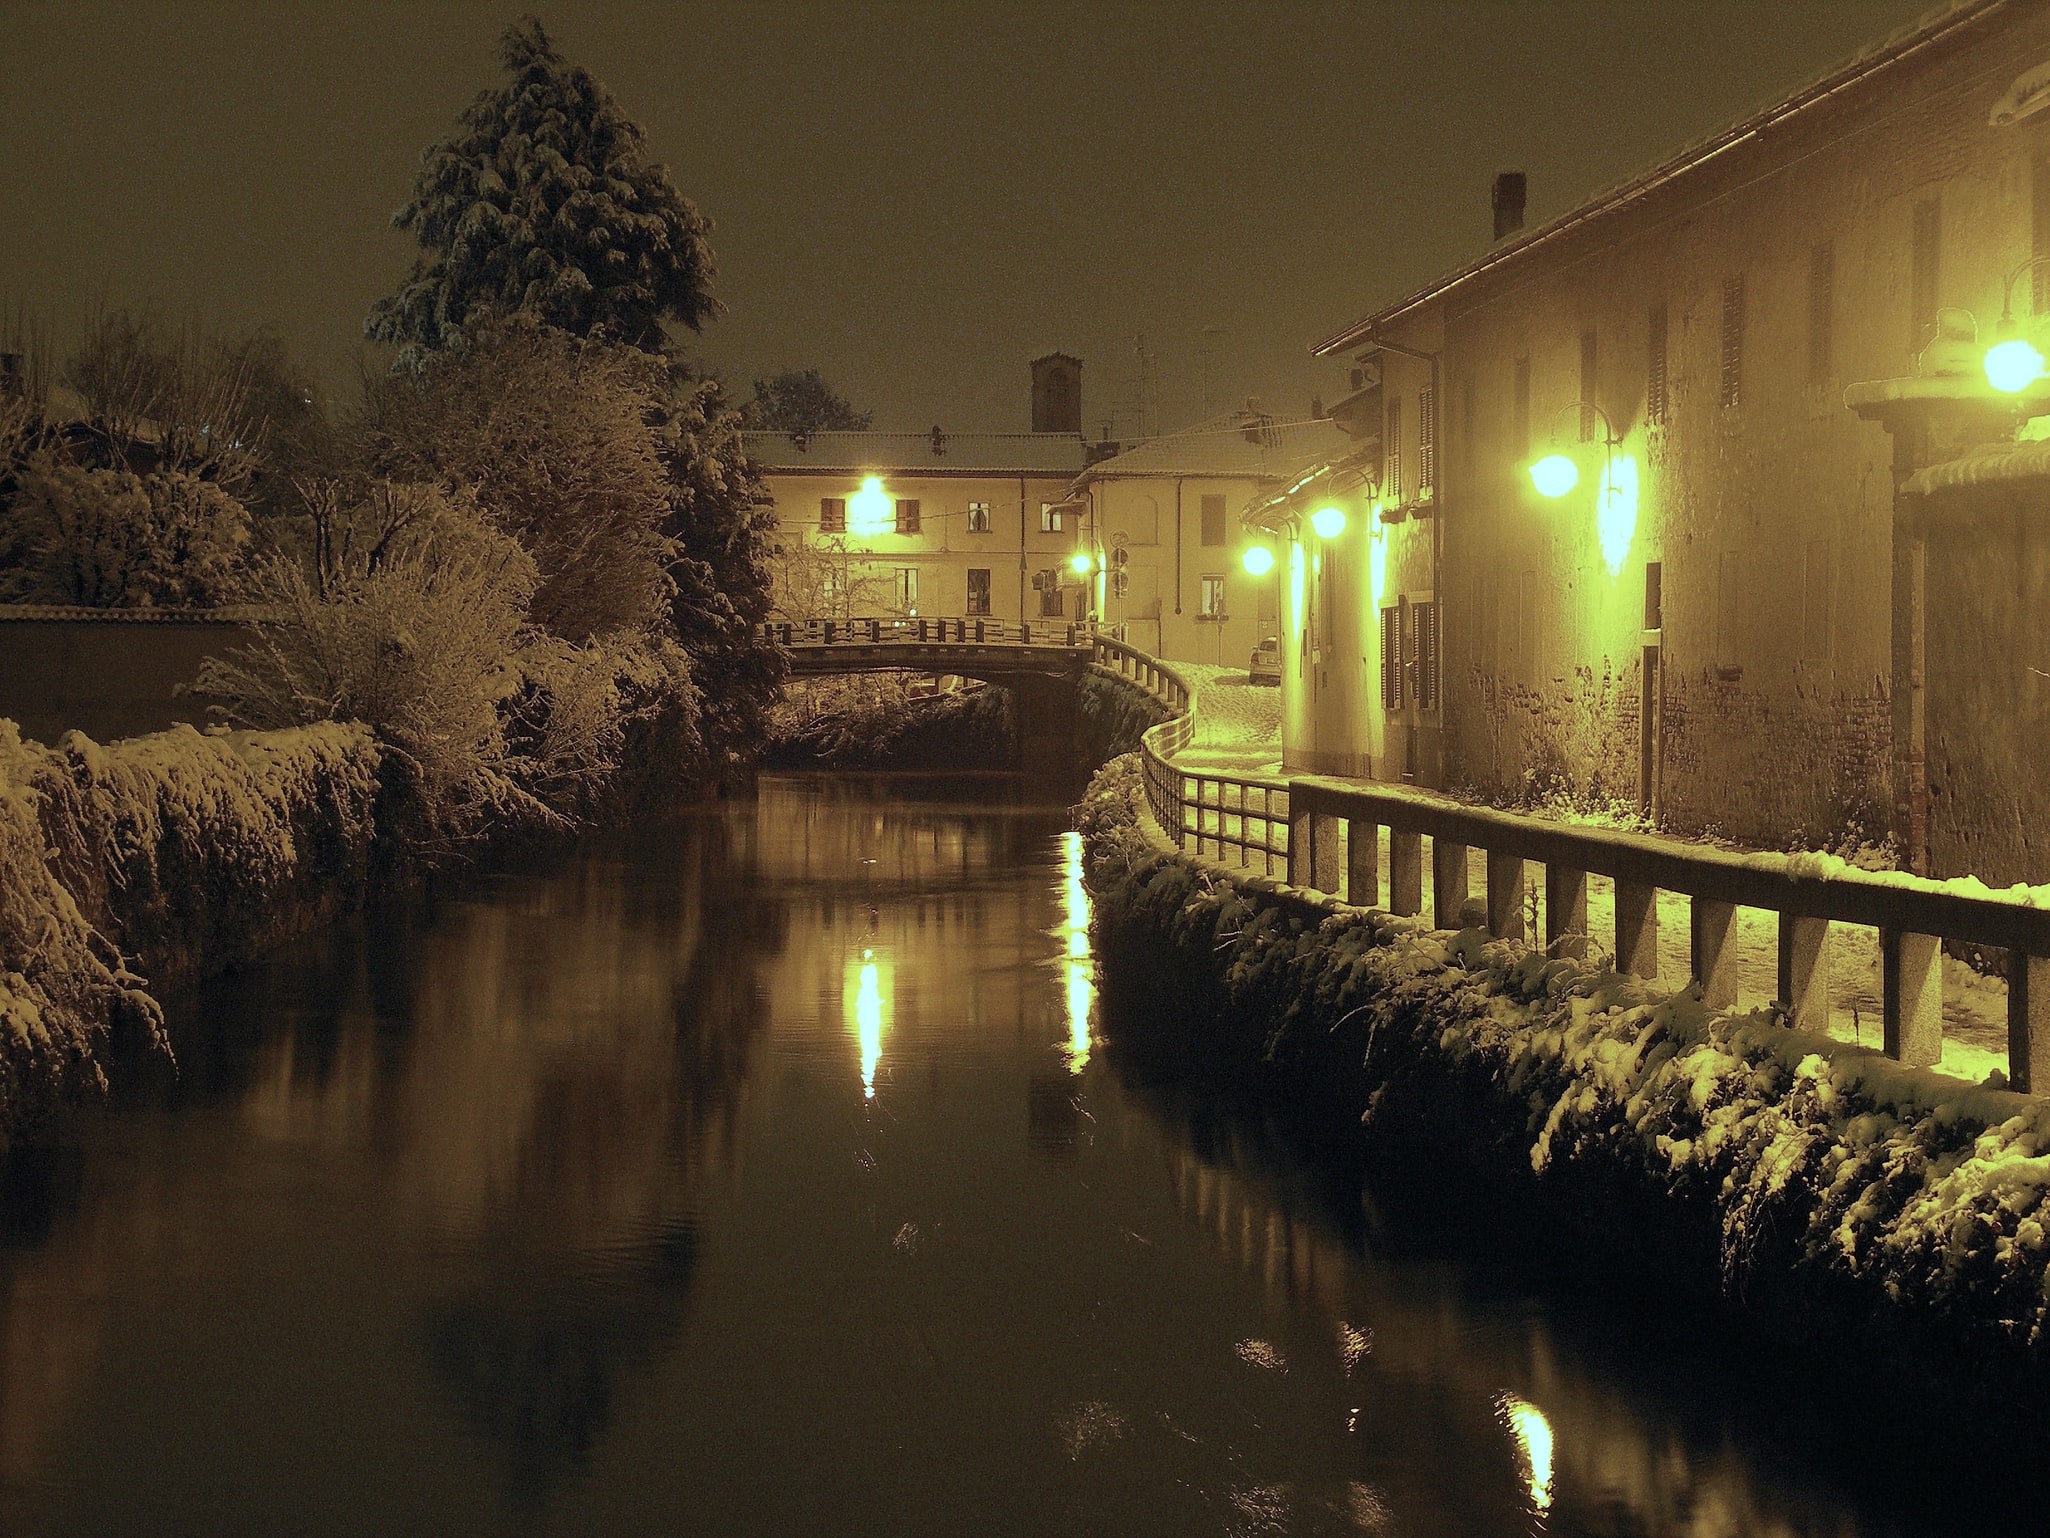
[[[711,221],[646,158],[640,125],[535,16],[506,29],[498,57],[510,80],[426,150],[394,215],[424,252],[371,308],[369,336],[412,359],[490,314],[646,351],[664,320],[701,328],[720,310]]]

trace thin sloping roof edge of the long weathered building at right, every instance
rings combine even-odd
[[[1511,240],[1505,240],[1499,246],[1490,246],[1486,254],[1476,256],[1466,267],[1460,267],[1445,277],[1433,279],[1414,293],[1408,293],[1406,297],[1398,299],[1392,306],[1376,310],[1363,320],[1355,320],[1345,330],[1335,332],[1326,336],[1322,342],[1312,345],[1310,353],[1314,357],[1328,357],[1330,353],[1343,353],[1345,349],[1361,347],[1371,340],[1378,328],[1394,324],[1396,320],[1417,310],[1419,306],[1431,303],[1433,299],[1449,293],[1455,287],[1462,287],[1464,283],[1470,283],[1482,273],[1490,273],[1496,267],[1503,267],[1505,262],[1521,258],[1525,252],[1537,246],[1550,244],[1558,236],[1566,234],[1568,230],[1576,230],[1589,219],[1595,219],[1603,213],[1636,203],[1638,199],[1671,183],[1675,176],[1683,176],[1695,170],[1697,166],[1708,164],[1716,156],[1734,150],[1747,139],[1759,137],[1761,133],[1777,127],[1786,119],[1810,107],[1818,107],[1831,100],[1833,96],[1837,96],[1837,92],[1863,80],[1865,76],[1878,74],[1888,66],[1894,66],[1911,55],[1917,55],[1923,49],[1943,41],[1952,33],[1970,27],[1982,16],[2001,10],[2003,6],[2009,4],[2011,0],[1947,0],[1947,4],[1937,6],[1935,10],[1923,14],[1919,21],[1909,23],[1906,27],[1878,39],[1876,43],[1868,43],[1845,64],[1839,64],[1827,74],[1808,80],[1806,84],[1773,100],[1771,105],[1745,113],[1734,123],[1728,123],[1726,127],[1720,127],[1714,133],[1704,135],[1701,139],[1695,139],[1693,144],[1685,146],[1679,154],[1667,156],[1648,170],[1642,170],[1611,187],[1601,189],[1599,193],[1595,193],[1581,205],[1568,209],[1566,213],[1558,215],[1556,219],[1550,219],[1548,224],[1542,226],[1533,226],[1531,230],[1525,230],[1523,234],[1513,236]]]

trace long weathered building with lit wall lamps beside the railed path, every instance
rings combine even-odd
[[[1298,537],[1285,761],[2050,876],[2013,833],[2042,751],[1966,751],[2019,720],[1995,701],[2036,730],[2050,646],[2025,603],[1970,646],[1937,607],[1993,623],[1970,591],[2021,580],[2050,502],[2009,457],[2005,523],[1925,539],[1970,476],[1911,488],[2050,410],[1974,371],[1997,316],[2050,310],[2046,105],[2050,6],[1960,0],[1540,228],[1505,178],[1484,254],[1312,349],[1353,369],[1355,459],[1265,509]]]

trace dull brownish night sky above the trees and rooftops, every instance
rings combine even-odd
[[[1339,394],[1308,345],[1913,21],[1929,0],[539,6],[715,224],[742,390],[818,367],[877,427],[1021,431]],[[0,0],[0,299],[275,322],[346,398],[420,150],[515,4]]]

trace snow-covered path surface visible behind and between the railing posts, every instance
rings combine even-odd
[[[1246,681],[1244,669],[1177,662],[1175,671],[1195,691],[1195,736],[1175,755],[1191,769],[1222,769],[1244,775],[1281,773],[1281,691]],[[1341,865],[1343,869],[1343,865]],[[1388,831],[1382,828],[1382,896],[1388,882]],[[1423,910],[1431,913],[1431,865],[1425,861]],[[1529,865],[1525,892],[1535,894],[1527,935],[1544,933],[1544,867]],[[1486,892],[1486,853],[1468,853],[1466,890]],[[1589,933],[1603,945],[1615,943],[1615,886],[1605,876],[1587,882]],[[1658,894],[1658,980],[1683,982],[1689,904],[1685,892]],[[1736,915],[1738,1005],[1763,1007],[1779,990],[1779,915],[1738,908]],[[1843,1042],[1878,1046],[1880,1025],[1880,935],[1863,925],[1831,927],[1829,1034]],[[1941,1070],[1958,1079],[1982,1081],[2007,1070],[2007,982],[1980,976],[1964,962],[1943,958],[1943,1060]]]

